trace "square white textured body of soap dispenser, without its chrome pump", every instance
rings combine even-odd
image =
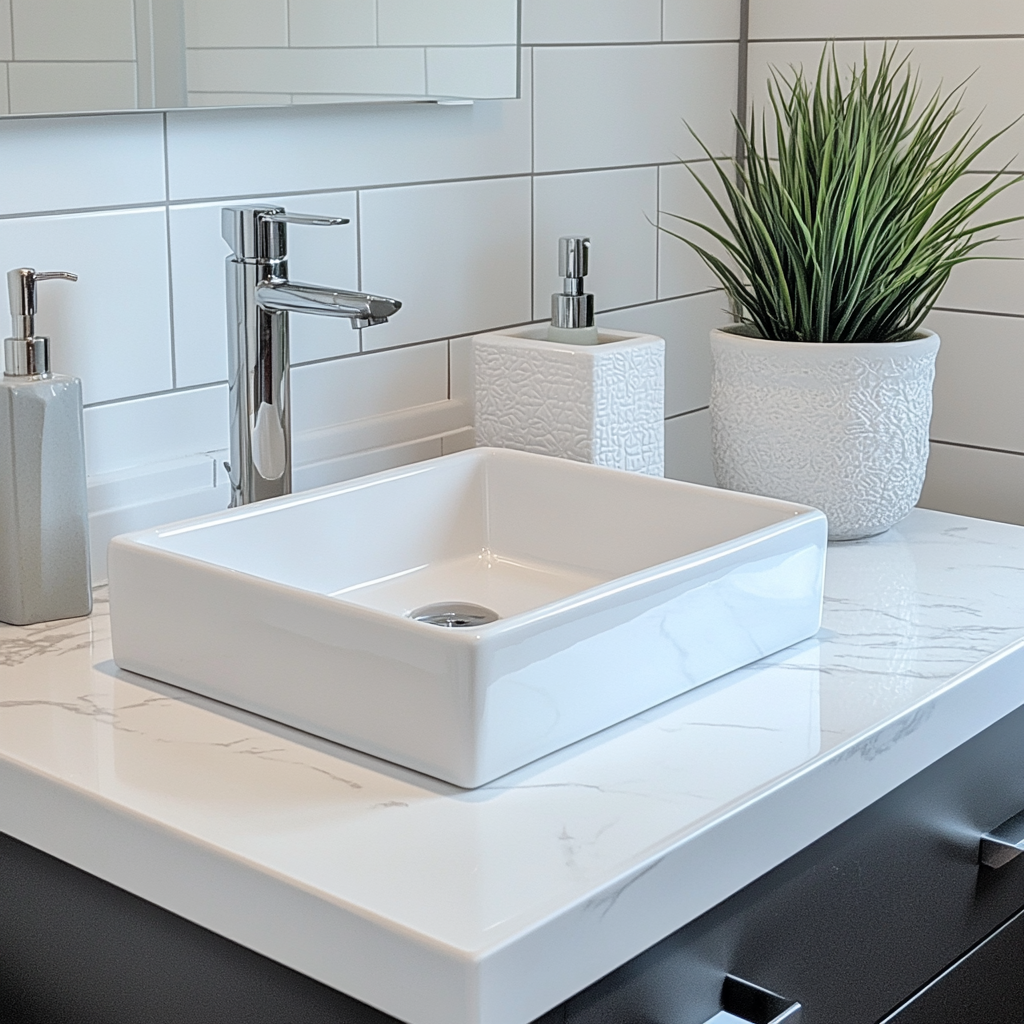
[[[477,445],[665,475],[665,341],[605,331],[597,345],[546,327],[473,339]]]

